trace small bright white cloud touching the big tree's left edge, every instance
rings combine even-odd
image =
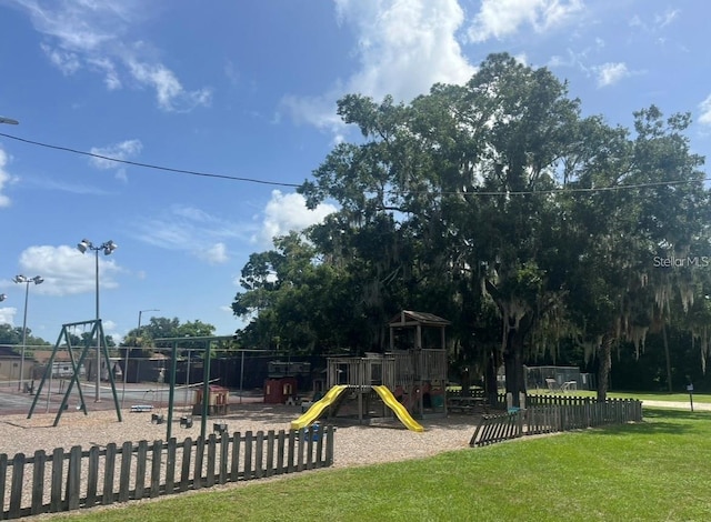
[[[336,212],[336,207],[321,203],[313,210],[307,208],[306,199],[298,193],[282,194],[274,190],[263,210],[262,228],[259,234],[252,237],[253,243],[270,245],[277,235],[286,235],[291,231],[301,231],[307,227],[320,223]]]

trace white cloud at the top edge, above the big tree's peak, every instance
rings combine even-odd
[[[582,0],[482,0],[468,36],[473,42],[501,40],[527,24],[535,32],[545,32],[582,10]]]

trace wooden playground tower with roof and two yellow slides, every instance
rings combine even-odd
[[[292,428],[304,428],[322,415],[363,424],[394,413],[408,429],[422,431],[414,419],[447,415],[448,324],[431,313],[403,310],[389,322],[388,352],[328,358],[329,391]],[[403,345],[411,348],[395,348]]]

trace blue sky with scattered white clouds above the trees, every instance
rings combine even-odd
[[[27,311],[54,343],[93,320],[98,259],[114,340],[151,317],[231,335],[249,255],[336,210],[296,187],[359,139],[337,100],[408,102],[492,52],[548,67],[611,124],[691,112],[708,157],[710,16],[708,0],[0,0],[0,117],[19,122],[0,123],[0,323]]]

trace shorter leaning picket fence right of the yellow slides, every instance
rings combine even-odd
[[[582,430],[641,420],[642,402],[628,399],[530,406],[525,410],[483,415],[469,445],[488,445],[524,435]]]

